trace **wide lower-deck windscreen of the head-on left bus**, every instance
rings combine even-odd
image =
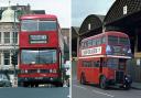
[[[22,50],[22,64],[53,64],[56,63],[56,50]]]

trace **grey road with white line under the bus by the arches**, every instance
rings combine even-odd
[[[96,85],[80,85],[73,78],[72,98],[141,98],[141,90],[110,87],[107,90]]]

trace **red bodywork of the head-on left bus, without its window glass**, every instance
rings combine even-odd
[[[41,22],[42,21],[55,21],[56,29],[48,30],[48,31],[47,30],[46,31],[40,31],[40,30],[39,31],[22,31],[21,29],[20,34],[19,34],[20,35],[19,68],[21,70],[21,73],[18,75],[19,83],[22,84],[23,86],[37,86],[39,84],[46,84],[46,83],[52,83],[52,84],[55,84],[56,86],[63,85],[62,70],[61,70],[62,55],[63,55],[63,41],[62,41],[63,37],[61,34],[61,29],[57,22],[57,18],[51,14],[23,15],[21,17],[21,26],[22,26],[22,21],[24,20],[30,20],[30,21],[33,20],[33,21],[41,21]],[[32,62],[32,61],[31,63],[26,63],[26,61],[24,61],[23,63],[22,58],[24,56],[24,53],[22,54],[22,51],[23,52],[33,51],[33,52],[39,52],[39,53],[42,51],[43,52],[46,51],[47,52],[46,54],[50,54],[48,51],[53,51],[53,52],[56,52],[56,54],[52,54],[54,55],[56,62],[47,63],[47,64],[46,63],[36,64],[35,62]],[[32,53],[31,55],[34,55],[34,53]],[[41,57],[45,57],[43,53]]]

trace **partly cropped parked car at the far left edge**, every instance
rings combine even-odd
[[[0,74],[0,87],[10,87],[11,83],[6,74]]]

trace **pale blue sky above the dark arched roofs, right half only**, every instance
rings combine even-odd
[[[72,25],[80,26],[89,14],[106,15],[116,0],[72,0]]]

